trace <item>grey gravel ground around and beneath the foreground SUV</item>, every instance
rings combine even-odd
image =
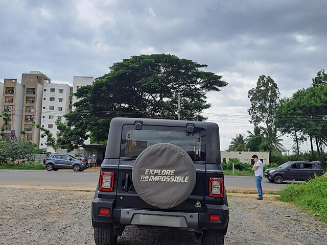
[[[90,219],[94,193],[0,189],[0,244],[95,244]],[[273,199],[229,197],[225,244],[327,244],[327,225]],[[127,227],[118,244],[194,244],[192,233]]]

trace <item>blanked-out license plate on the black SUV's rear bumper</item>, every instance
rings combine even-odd
[[[139,225],[180,227],[180,218],[178,216],[140,214]]]

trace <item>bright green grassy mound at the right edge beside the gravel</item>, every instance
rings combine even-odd
[[[321,176],[301,184],[290,184],[280,194],[279,200],[293,203],[327,223],[327,178]]]

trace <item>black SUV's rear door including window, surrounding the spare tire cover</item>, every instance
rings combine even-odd
[[[135,125],[125,125],[121,141],[116,206],[157,209],[144,202],[136,193],[132,183],[132,167],[136,157],[148,146],[156,143],[172,143],[181,147],[194,160],[196,184],[186,201],[168,210],[204,211],[206,181],[205,162],[202,160],[205,159],[205,139],[205,130],[202,129],[189,134],[186,127],[143,125],[141,130],[135,130]]]

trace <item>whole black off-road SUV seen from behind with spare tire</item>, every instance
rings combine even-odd
[[[128,225],[223,244],[229,209],[220,163],[217,124],[113,118],[92,201],[96,244],[116,244]]]

